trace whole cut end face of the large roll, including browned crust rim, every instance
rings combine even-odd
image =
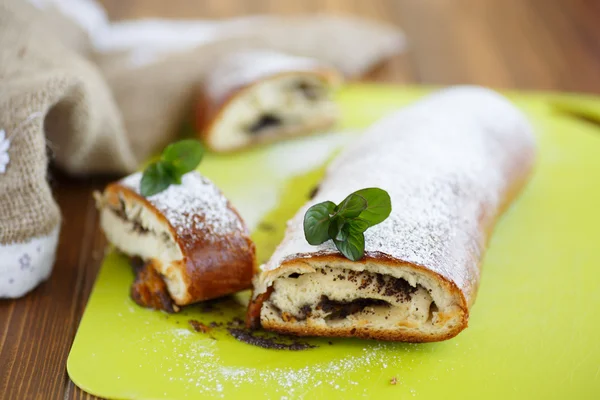
[[[271,285],[253,299],[249,315],[254,326],[281,333],[439,341],[458,334],[468,320],[455,285],[383,254],[357,262],[311,255],[263,278]]]

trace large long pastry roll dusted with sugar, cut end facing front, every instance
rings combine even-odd
[[[330,165],[254,282],[249,323],[296,335],[409,342],[467,326],[486,244],[527,181],[535,144],[524,116],[482,88],[434,94],[373,125]],[[365,255],[311,246],[303,217],[366,187],[390,216],[365,232]]]

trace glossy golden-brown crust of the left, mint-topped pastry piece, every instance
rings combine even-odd
[[[219,195],[222,196],[220,192]],[[241,228],[226,230],[224,234],[216,232],[217,229],[207,221],[207,212],[201,207],[182,215],[180,223],[175,224],[173,219],[165,217],[164,210],[157,208],[152,197],[147,199],[141,196],[122,181],[108,185],[103,195],[102,208],[120,210],[123,202],[141,204],[144,209],[149,210],[168,229],[170,238],[181,251],[181,258],[167,265],[158,258],[149,260],[161,275],[171,277],[183,288],[177,295],[171,293],[177,305],[221,297],[251,286],[256,269],[255,246],[237,210],[229,202],[227,208],[239,220],[236,223]],[[104,229],[106,231],[107,227]],[[114,244],[117,248],[120,247],[119,243]]]

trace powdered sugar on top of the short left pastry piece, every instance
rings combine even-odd
[[[140,193],[141,173],[124,178],[121,184]],[[169,221],[177,234],[193,242],[201,234],[203,240],[221,238],[233,233],[247,234],[241,218],[230,207],[221,191],[198,172],[182,177],[181,185],[147,197],[147,200]]]

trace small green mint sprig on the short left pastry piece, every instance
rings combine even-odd
[[[168,145],[160,159],[144,170],[140,194],[149,197],[162,192],[170,185],[181,184],[181,177],[196,169],[203,155],[202,145],[194,139],[181,140]]]

